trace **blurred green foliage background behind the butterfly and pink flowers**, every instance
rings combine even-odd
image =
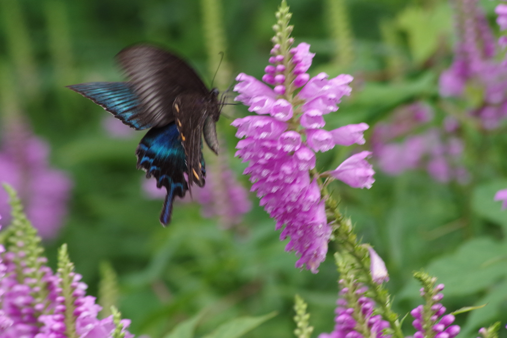
[[[208,5],[206,5],[208,4]],[[481,1],[491,26],[497,2]],[[122,48],[158,43],[185,57],[207,84],[212,78],[203,27],[207,0],[1,0],[0,78],[3,115],[25,114],[34,133],[51,143],[51,163],[74,181],[69,212],[60,235],[46,243],[50,264],[56,248],[68,243],[76,270],[97,295],[99,265],[118,275],[118,305],[132,320],[130,331],[161,337],[174,325],[207,309],[198,332],[208,332],[240,315],[278,315],[248,333],[254,337],[293,336],[294,295],[309,304],[313,336],[334,325],[338,274],[331,244],[318,274],[294,268],[297,257],[283,251],[274,221],[250,194],[253,209],[244,222],[222,230],[200,216],[196,203],[176,203],[173,220],[162,228],[161,200],[141,190],[143,172],[134,151],[143,132],[114,138],[102,126],[106,113],[63,86],[121,81],[113,60]],[[271,49],[271,26],[279,5],[272,0],[223,0],[218,22],[225,32],[225,58],[232,85],[239,72],[261,78]],[[374,126],[403,103],[438,104],[438,76],[452,60],[452,10],[443,0],[291,0],[293,36],[316,53],[310,73],[353,74],[353,92],[328,129],[347,123]],[[495,28],[496,29],[496,28]],[[222,88],[224,89],[224,88]],[[232,98],[231,98],[232,100]],[[236,106],[233,117],[248,114]],[[249,188],[233,157],[234,129],[223,116],[219,130],[230,165]],[[359,235],[386,261],[394,310],[403,317],[417,304],[412,271],[426,267],[446,283],[449,310],[484,304],[459,315],[461,336],[493,320],[507,320],[507,214],[493,202],[507,187],[507,137],[470,132],[465,164],[474,179],[465,186],[442,184],[427,173],[392,177],[379,172],[370,190],[333,186],[341,210]],[[368,136],[368,135],[367,135]],[[369,148],[367,141],[364,146]],[[480,149],[480,151],[478,151]],[[353,149],[323,154],[318,169],[336,167]],[[479,154],[480,153],[480,154]],[[1,178],[1,177],[0,177]],[[412,334],[411,318],[404,327]],[[504,336],[505,334],[502,333]]]

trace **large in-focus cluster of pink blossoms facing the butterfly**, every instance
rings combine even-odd
[[[236,156],[249,162],[243,173],[250,175],[251,191],[257,193],[260,205],[276,220],[276,229],[282,230],[280,239],[289,238],[285,250],[295,251],[299,256],[296,267],[306,267],[316,273],[328,251],[331,228],[319,186],[309,173],[315,167],[314,152],[329,151],[337,142],[364,143],[363,131],[368,126],[345,126],[334,131],[336,136],[322,129],[325,125],[322,115],[336,111],[336,104],[342,96],[350,94],[348,84],[352,77],[342,74],[328,79],[328,74],[320,73],[309,79],[306,71],[314,56],[309,48],[308,44],[302,43],[288,55],[281,55],[280,45],[273,47],[271,65],[265,68],[263,80],[276,85],[274,89],[255,78],[239,74],[236,78],[239,83],[234,87],[239,95],[235,100],[242,101],[249,111],[259,115],[236,119],[232,125],[238,129],[236,137],[245,137],[236,146]],[[286,81],[286,74],[281,72],[286,69],[293,69],[291,78],[295,81],[292,87],[282,84]],[[287,88],[294,90],[294,87],[303,85],[297,94],[303,101],[303,114],[295,116],[292,104],[284,98],[277,98],[276,94],[286,95]],[[298,122],[303,128],[296,126]],[[345,171],[341,176],[353,176]],[[355,171],[353,179],[364,182],[352,184],[371,186],[373,178],[361,178],[359,169]],[[371,166],[369,173],[373,175]],[[350,178],[343,179],[350,181]]]

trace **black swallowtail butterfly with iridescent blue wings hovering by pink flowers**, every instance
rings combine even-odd
[[[167,190],[160,214],[165,226],[171,221],[174,198],[184,197],[193,183],[204,186],[201,135],[218,155],[215,124],[224,103],[218,98],[218,90],[208,90],[185,61],[158,47],[127,47],[116,60],[127,82],[91,82],[67,88],[131,128],[151,128],[135,154],[137,168],[146,171],[147,178],[154,176],[158,188]]]

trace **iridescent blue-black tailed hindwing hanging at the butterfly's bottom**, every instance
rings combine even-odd
[[[187,172],[187,159],[174,123],[162,128],[152,128],[139,142],[136,152],[137,168],[146,171],[146,177],[154,176],[157,187],[165,186],[167,195],[160,213],[160,222],[164,225],[171,221],[172,202],[176,196],[184,197],[188,184],[184,173]],[[201,156],[202,174],[204,160]]]

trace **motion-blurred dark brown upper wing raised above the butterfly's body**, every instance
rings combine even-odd
[[[172,121],[172,106],[182,93],[209,93],[196,72],[179,57],[150,45],[125,48],[116,56],[141,102],[140,125],[162,127]]]

